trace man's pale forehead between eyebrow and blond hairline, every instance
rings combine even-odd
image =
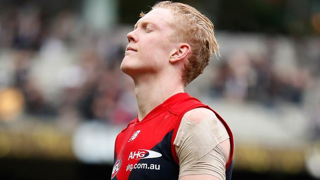
[[[144,21],[150,21],[161,28],[166,26],[170,27],[170,25],[174,21],[174,16],[172,15],[171,10],[169,9],[156,8],[148,12],[142,18],[140,18],[136,25]]]

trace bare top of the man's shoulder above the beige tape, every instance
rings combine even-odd
[[[215,113],[212,112],[210,109],[207,108],[195,108],[188,111],[183,118],[191,120],[193,123],[198,124],[201,120],[209,118],[209,117],[216,117]]]

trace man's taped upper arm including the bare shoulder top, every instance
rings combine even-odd
[[[226,132],[226,129],[225,129],[225,127],[224,127],[224,125],[222,124],[222,122],[220,122],[220,120],[216,117],[216,115],[214,114],[214,112],[212,112],[211,110],[209,110],[209,109],[207,109],[207,108],[196,108],[196,109],[193,109],[193,110],[191,110],[191,111],[188,111],[185,115],[184,115],[184,117],[183,117],[183,119],[184,120],[189,120],[189,122],[191,121],[192,123],[193,123],[193,125],[194,125],[194,129],[197,129],[197,130],[203,130],[204,132],[207,132],[208,131],[208,133],[196,133],[196,134],[192,134],[192,136],[189,136],[189,142],[188,143],[185,143],[185,144],[193,144],[193,145],[195,145],[194,147],[193,147],[193,149],[186,149],[186,145],[184,145],[184,144],[182,144],[182,143],[178,143],[181,147],[178,147],[178,146],[176,146],[176,152],[177,152],[177,154],[178,153],[181,153],[181,154],[179,154],[178,155],[178,158],[179,158],[179,162],[180,162],[180,165],[183,165],[183,164],[185,164],[185,162],[184,161],[190,161],[191,159],[194,161],[194,164],[192,164],[192,165],[190,165],[190,168],[192,169],[194,169],[194,167],[196,167],[195,169],[197,169],[197,170],[195,170],[194,172],[192,172],[192,173],[186,173],[186,172],[183,172],[184,170],[186,170],[186,166],[184,166],[183,165],[183,167],[184,167],[184,170],[181,170],[180,169],[180,179],[181,180],[219,180],[219,178],[217,178],[216,176],[214,176],[214,175],[218,175],[218,174],[216,174],[215,172],[214,173],[210,173],[210,172],[208,172],[208,171],[206,171],[206,173],[202,173],[202,170],[201,170],[201,168],[208,168],[206,165],[204,165],[204,164],[202,164],[201,163],[201,161],[206,161],[205,163],[212,163],[212,165],[211,165],[211,167],[213,168],[213,169],[215,169],[215,168],[217,168],[217,169],[219,169],[219,170],[221,170],[221,171],[224,171],[224,167],[222,167],[222,166],[225,166],[225,163],[229,160],[229,158],[230,158],[230,141],[229,141],[229,138],[225,138],[225,136],[222,136],[222,137],[224,137],[224,138],[220,138],[219,139],[219,137],[214,137],[214,139],[216,139],[216,140],[213,140],[213,139],[211,139],[211,137],[212,136],[215,136],[216,134],[217,135],[220,135],[220,134],[222,134],[221,133],[221,130],[217,130],[215,127],[217,127],[218,126],[218,123],[220,123],[219,124],[219,127],[220,128],[224,128],[223,130],[224,130],[224,134],[226,133],[226,136],[227,136],[227,132]],[[211,123],[211,121],[209,121],[209,120],[211,120],[212,121],[212,123]],[[202,122],[202,123],[201,123]],[[209,122],[209,123],[208,123]],[[201,125],[200,125],[200,123],[201,123]],[[216,124],[213,124],[213,123],[216,123]],[[198,125],[198,127],[200,126],[202,126],[202,128],[196,128],[196,126]],[[207,126],[208,125],[208,126]],[[206,128],[206,127],[208,127],[208,128]],[[180,128],[180,127],[179,127]],[[211,130],[210,130],[210,128],[211,128]],[[190,130],[190,129],[189,129]],[[215,133],[214,131],[219,131],[219,132],[217,132],[217,133]],[[210,132],[209,132],[210,131]],[[194,131],[194,132],[197,132],[197,131]],[[194,133],[193,132],[193,133]],[[179,133],[179,132],[178,132]],[[187,136],[189,135],[189,134],[187,134],[186,132],[184,132],[183,134],[181,133],[181,135],[183,135],[183,137],[180,137],[181,139],[180,139],[180,142],[181,141],[184,141],[184,139],[183,138],[186,138],[187,139]],[[228,136],[227,136],[228,137]],[[190,139],[191,138],[191,139]],[[192,139],[193,138],[193,139]],[[204,145],[202,145],[202,144],[199,144],[199,143],[194,143],[194,142],[197,142],[198,140],[204,140],[203,142],[205,142],[204,143]],[[211,141],[215,141],[215,142],[209,142],[210,143],[210,145],[208,144],[208,142],[206,142],[206,140],[208,140],[208,141],[210,141],[209,139],[211,139]],[[200,140],[200,141],[201,141]],[[212,144],[215,144],[214,146],[211,146]],[[188,146],[189,146],[188,145]],[[212,155],[214,154],[214,153],[216,153],[216,155],[218,154],[219,155],[219,153],[217,153],[217,151],[215,151],[215,150],[217,150],[216,148],[213,148],[213,147],[218,147],[218,145],[220,145],[219,146],[219,150],[220,150],[220,154],[224,154],[224,155],[221,155],[221,157],[224,157],[223,159],[223,161],[225,161],[224,162],[224,164],[223,163],[218,163],[217,164],[217,166],[215,165],[216,163],[215,162],[218,162],[218,161],[211,161],[211,160],[205,160],[205,159],[212,159]],[[208,154],[206,154],[206,155],[204,155],[203,156],[203,158],[201,158],[201,159],[199,159],[198,161],[195,161],[195,158],[194,157],[191,157],[191,158],[186,158],[185,156],[184,156],[184,154],[189,154],[189,152],[190,151],[193,151],[192,153],[194,154],[195,153],[195,156],[197,156],[197,155],[201,155],[201,154],[196,154],[197,153],[197,150],[194,150],[194,148],[196,148],[196,149],[202,149],[201,148],[201,146],[204,146],[204,147],[207,147],[207,146],[211,146],[211,150],[212,151],[210,151],[210,153],[208,153]],[[179,150],[179,148],[181,148],[180,150]],[[204,148],[204,149],[206,149],[206,148]],[[184,151],[184,152],[182,152],[182,151]],[[195,151],[195,152],[194,152]],[[208,151],[207,151],[208,152]],[[203,155],[203,154],[202,154]],[[180,156],[180,157],[179,157]],[[200,156],[199,156],[200,157]],[[213,163],[214,162],[214,163]],[[196,164],[196,163],[198,163],[198,164]],[[202,167],[203,166],[203,167]],[[190,170],[190,168],[187,168],[187,169],[189,169]],[[182,174],[181,174],[182,173]],[[210,175],[211,174],[211,175]],[[223,178],[223,176],[218,176],[218,177],[221,177],[221,178]]]

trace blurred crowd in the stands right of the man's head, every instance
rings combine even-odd
[[[320,38],[224,35],[233,40],[223,38],[229,50],[214,64],[211,97],[253,102],[279,112],[283,105],[296,107],[305,117],[310,138],[319,140]]]

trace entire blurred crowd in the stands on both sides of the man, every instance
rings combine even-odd
[[[135,118],[133,83],[119,68],[126,46],[121,31],[128,30],[120,25],[93,30],[69,10],[43,18],[34,6],[3,9],[0,119],[19,111],[70,126],[79,120],[122,124]],[[259,34],[256,45],[246,48],[250,35],[221,36],[231,37],[218,37],[222,58],[213,57],[206,70],[212,73],[205,93],[267,108],[279,102],[301,106],[320,127],[319,37]]]

